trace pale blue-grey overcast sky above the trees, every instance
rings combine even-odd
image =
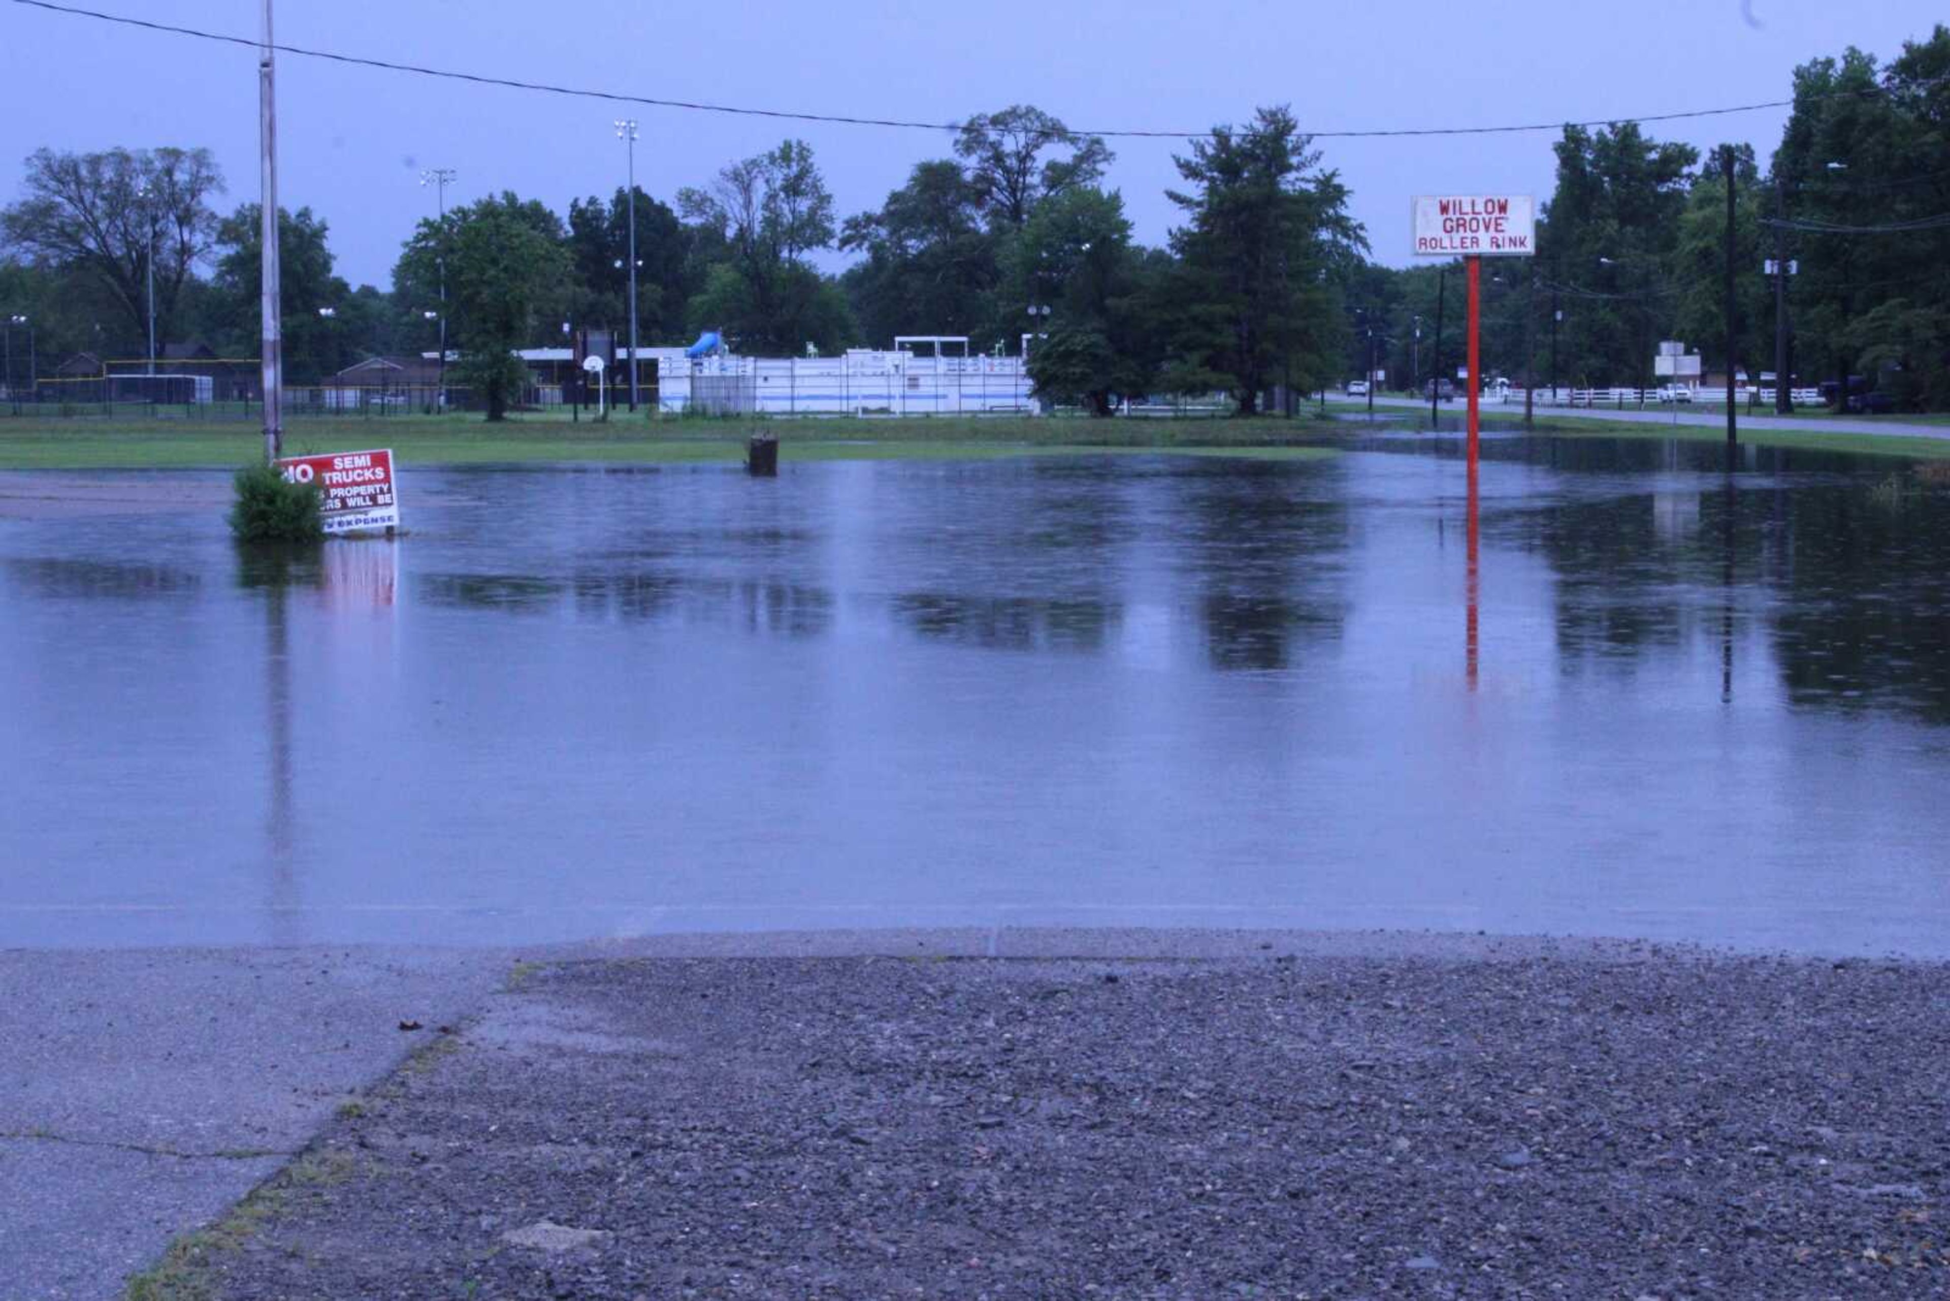
[[[88,8],[246,37],[257,0],[90,0]],[[1503,125],[1704,109],[1790,96],[1790,70],[1858,45],[1888,60],[1942,16],[1927,0],[981,0],[536,4],[281,0],[277,37],[462,72],[671,99],[954,121],[1035,103],[1076,129],[1191,131],[1291,103],[1312,131]],[[332,224],[339,273],[390,283],[431,211],[419,170],[458,172],[448,201],[513,189],[566,211],[622,183],[610,121],[642,119],[638,183],[663,199],[784,135],[813,144],[838,213],[879,207],[946,133],[778,123],[468,86],[279,59],[285,207]],[[1784,111],[1650,127],[1710,146],[1753,140],[1763,166]],[[1406,263],[1408,199],[1552,187],[1552,133],[1320,140],[1353,189],[1375,256]],[[240,47],[0,0],[0,199],[47,144],[209,146],[230,207],[257,197],[255,59]],[[1174,220],[1182,142],[1113,140],[1110,183],[1145,242]],[[837,265],[837,259],[835,259]],[[916,322],[916,330],[924,322]]]

